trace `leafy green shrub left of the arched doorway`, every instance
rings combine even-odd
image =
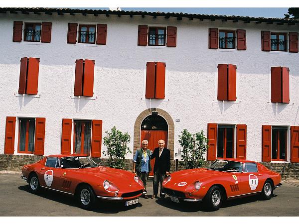
[[[108,155],[108,163],[110,167],[117,169],[124,169],[125,167],[125,157],[130,148],[128,147],[128,143],[131,140],[130,135],[126,132],[123,133],[120,130],[117,130],[114,126],[111,131],[105,131],[107,134],[104,137],[104,145],[107,146],[107,150],[103,153],[104,155]]]

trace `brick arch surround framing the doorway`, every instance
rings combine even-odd
[[[137,149],[140,148],[140,133],[141,133],[141,123],[152,111],[157,111],[160,116],[162,116],[168,124],[168,149],[170,150],[170,159],[174,159],[174,122],[169,113],[158,109],[158,108],[149,108],[139,114],[134,124],[134,155]],[[158,144],[157,146],[158,147]]]

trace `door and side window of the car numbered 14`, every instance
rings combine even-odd
[[[242,195],[262,191],[263,183],[263,175],[259,173],[258,165],[256,163],[245,163],[241,184]]]

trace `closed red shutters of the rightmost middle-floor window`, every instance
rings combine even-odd
[[[290,103],[290,70],[287,67],[271,67],[271,102]]]

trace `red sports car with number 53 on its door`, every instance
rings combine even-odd
[[[40,187],[73,195],[80,207],[90,210],[96,199],[137,204],[145,193],[142,180],[131,172],[98,166],[84,155],[51,155],[22,168],[32,193]]]

